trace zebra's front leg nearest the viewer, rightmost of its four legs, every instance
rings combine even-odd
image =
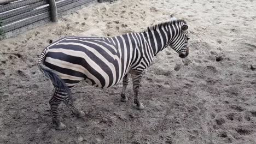
[[[141,78],[144,74],[143,70],[132,70],[132,85],[133,85],[133,93],[134,93],[134,103],[136,104],[136,109],[143,110],[144,106],[142,103],[139,102],[138,92],[139,92],[139,85],[141,83]]]

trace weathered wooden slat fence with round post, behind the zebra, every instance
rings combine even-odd
[[[0,35],[11,37],[97,0],[0,0]]]

